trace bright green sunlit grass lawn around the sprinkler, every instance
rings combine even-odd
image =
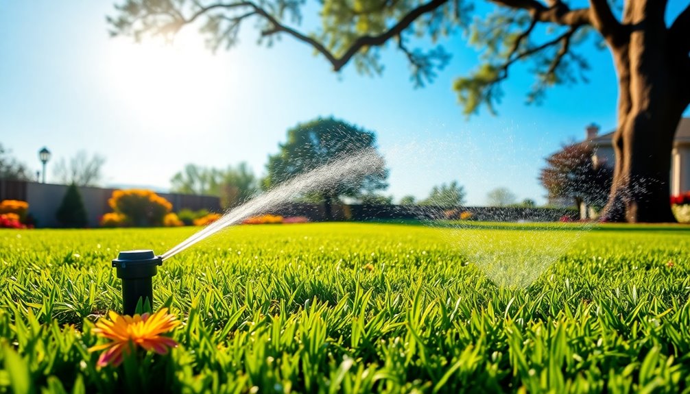
[[[690,392],[685,227],[237,227],[154,278],[179,346],[97,368],[110,260],[193,231],[0,231],[0,392]]]

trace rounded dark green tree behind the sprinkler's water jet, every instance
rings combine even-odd
[[[288,130],[287,141],[278,154],[268,156],[264,187],[270,188],[311,169],[355,154],[362,149],[376,148],[374,132],[356,127],[333,117],[316,118]],[[353,197],[386,189],[388,170],[368,174],[357,181],[337,183],[317,192],[324,201],[326,220],[333,218],[332,205],[342,196]]]

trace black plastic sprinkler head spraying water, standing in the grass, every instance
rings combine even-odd
[[[148,302],[153,308],[152,278],[163,264],[163,258],[156,256],[152,250],[121,251],[112,267],[117,269],[117,278],[122,280],[122,311],[125,315],[134,315],[137,302]]]

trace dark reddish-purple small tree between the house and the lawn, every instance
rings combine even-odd
[[[606,165],[595,165],[593,148],[587,143],[563,145],[546,158],[539,180],[549,198],[572,198],[581,203],[603,207],[609,197],[613,172]]]

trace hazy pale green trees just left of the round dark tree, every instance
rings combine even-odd
[[[175,193],[219,196],[225,208],[235,207],[259,191],[257,177],[244,162],[224,170],[188,164],[170,183],[170,191]]]

